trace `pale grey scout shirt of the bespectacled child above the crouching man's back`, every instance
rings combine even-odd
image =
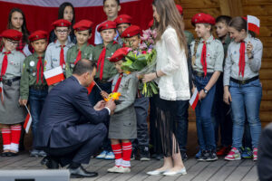
[[[73,45],[74,44],[69,42],[68,40],[66,41],[65,46],[63,47],[64,61],[66,60],[66,53],[68,49],[71,48]],[[61,50],[61,43],[58,40],[54,43],[50,43],[47,46],[44,57],[44,71],[49,71],[55,67],[60,66]],[[63,65],[63,71],[65,71],[65,64]]]

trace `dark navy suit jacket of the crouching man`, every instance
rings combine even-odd
[[[87,89],[71,76],[49,92],[38,123],[34,147],[66,148],[83,143],[101,131],[95,125],[108,117],[108,110],[93,109]]]

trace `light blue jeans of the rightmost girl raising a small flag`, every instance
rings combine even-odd
[[[239,85],[230,81],[229,91],[232,98],[231,109],[233,114],[232,146],[242,147],[246,114],[252,138],[252,147],[257,148],[261,133],[259,107],[262,98],[262,87],[259,80]]]

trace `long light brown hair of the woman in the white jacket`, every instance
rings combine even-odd
[[[187,41],[184,34],[184,24],[174,0],[153,0],[152,5],[156,7],[157,13],[160,15],[160,23],[155,23],[158,33],[156,42],[160,41],[162,33],[164,33],[166,28],[170,25],[176,30],[180,49],[184,49],[186,54],[188,54]],[[155,18],[154,21],[156,21]]]

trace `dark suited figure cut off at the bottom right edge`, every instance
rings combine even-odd
[[[257,173],[260,181],[272,180],[272,123],[262,131],[259,139]]]

